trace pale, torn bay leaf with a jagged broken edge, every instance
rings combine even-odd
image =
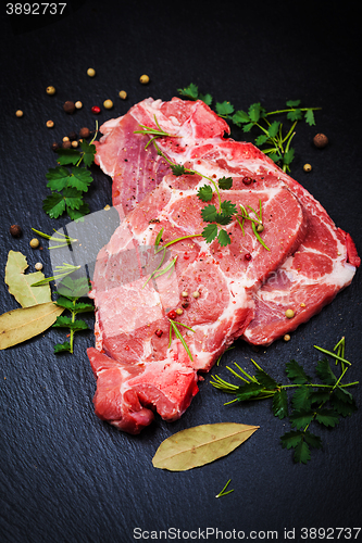
[[[24,254],[9,251],[5,267],[5,283],[9,287],[9,292],[13,294],[22,307],[51,302],[49,285],[32,287],[34,282],[45,279],[45,275],[41,272],[25,275],[24,272],[27,267]]]

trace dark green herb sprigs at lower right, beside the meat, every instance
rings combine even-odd
[[[330,357],[341,362],[341,372],[339,377],[333,371],[328,358],[323,358],[316,364],[316,375],[322,382],[312,382],[303,367],[295,359],[286,364],[287,377],[292,384],[282,384],[266,374],[254,361],[257,366],[254,376],[247,374],[240,366],[235,364],[240,374],[227,367],[227,369],[242,381],[237,386],[229,383],[219,376],[212,376],[211,383],[219,390],[234,394],[236,397],[225,405],[234,402],[246,402],[251,400],[264,400],[272,397],[272,409],[279,419],[289,417],[292,430],[282,435],[282,446],[294,449],[294,459],[297,463],[307,464],[311,458],[310,447],[321,449],[322,440],[310,431],[310,426],[319,424],[321,426],[334,428],[339,417],[350,416],[357,405],[352,394],[347,390],[349,387],[358,384],[359,381],[342,383],[347,370],[351,363],[335,352],[314,345]],[[345,350],[345,338],[336,345],[335,350]],[[296,389],[290,397],[291,413],[288,408],[288,392]]]

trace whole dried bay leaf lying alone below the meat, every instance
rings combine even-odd
[[[152,458],[155,468],[185,471],[226,456],[259,426],[217,422],[182,430],[164,440]]]

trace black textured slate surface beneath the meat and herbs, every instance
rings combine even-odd
[[[78,1],[67,2],[63,17],[0,17],[1,55],[1,277],[8,252],[22,251],[30,268],[37,261],[50,275],[47,243],[33,251],[30,227],[51,232],[67,219],[52,220],[41,209],[49,193],[45,174],[54,167],[50,150],[70,130],[93,126],[93,104],[114,101],[103,122],[124,114],[151,96],[168,100],[190,81],[215,101],[236,109],[261,101],[267,110],[289,99],[322,106],[316,127],[299,124],[291,175],[349,231],[362,253],[361,231],[361,40],[357,3],[351,2],[204,2]],[[4,8],[2,8],[4,10]],[[92,66],[95,78],[86,75]],[[150,76],[142,86],[141,74]],[[46,87],[54,85],[54,97]],[[128,100],[120,100],[121,89]],[[83,110],[68,116],[65,100],[82,100]],[[15,111],[24,111],[23,118]],[[52,118],[55,127],[46,128]],[[312,144],[316,131],[329,146]],[[244,138],[233,128],[235,138]],[[302,171],[309,162],[310,174]],[[87,195],[91,211],[111,203],[110,179],[92,167]],[[18,223],[23,238],[9,235]],[[225,355],[252,370],[253,357],[277,379],[295,357],[310,371],[319,359],[313,344],[327,349],[345,334],[347,357],[361,369],[361,272],[351,287],[289,343],[276,342],[255,353],[239,343]],[[0,311],[17,307],[3,280]],[[87,320],[92,324],[91,317]],[[55,356],[53,344],[64,332],[2,351],[0,541],[130,542],[142,530],[278,530],[284,528],[361,526],[361,386],[354,390],[360,409],[329,431],[317,430],[323,450],[295,465],[279,437],[288,422],[273,417],[267,402],[224,406],[226,396],[201,383],[183,418],[172,425],[157,418],[139,437],[120,433],[92,411],[96,383],[86,356],[92,332],[79,333],[75,354]],[[187,472],[157,470],[151,458],[160,442],[191,426],[233,420],[260,425],[241,447],[221,460]],[[235,492],[215,494],[232,478]],[[151,534],[150,534],[151,535]],[[335,534],[336,535],[336,534]],[[360,535],[361,539],[361,535]],[[214,541],[209,538],[209,541]],[[296,535],[296,540],[300,540]],[[146,541],[146,540],[145,540]],[[260,538],[258,541],[262,541]],[[305,540],[304,540],[305,541]]]

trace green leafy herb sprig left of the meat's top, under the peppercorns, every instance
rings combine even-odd
[[[46,174],[47,187],[52,192],[42,202],[43,211],[51,218],[58,218],[66,212],[72,220],[77,220],[89,213],[89,206],[83,197],[92,181],[87,167],[95,161],[96,146],[92,141],[97,137],[97,130],[90,143],[85,140],[80,142],[80,151],[57,150],[59,166],[50,168]]]

